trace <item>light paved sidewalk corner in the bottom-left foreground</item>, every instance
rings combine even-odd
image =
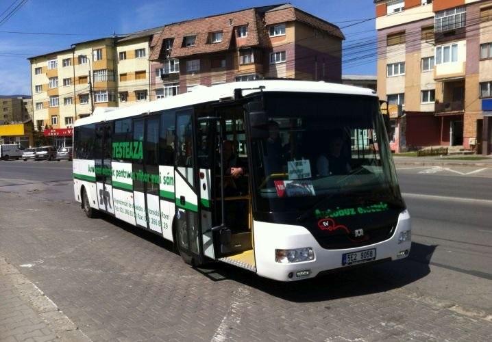
[[[0,341],[90,341],[36,285],[0,257]]]

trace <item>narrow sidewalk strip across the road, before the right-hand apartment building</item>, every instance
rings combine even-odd
[[[396,166],[480,166],[482,168],[492,168],[492,155],[486,156],[480,160],[456,160],[455,158],[466,157],[482,157],[477,156],[461,156],[461,155],[448,155],[445,157],[401,157],[393,156]]]

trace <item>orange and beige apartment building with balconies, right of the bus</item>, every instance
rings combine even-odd
[[[393,150],[490,153],[492,1],[375,0],[378,95]]]

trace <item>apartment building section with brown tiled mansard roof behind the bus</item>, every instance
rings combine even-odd
[[[169,24],[151,42],[153,91],[261,78],[340,82],[343,39],[339,27],[290,4]]]

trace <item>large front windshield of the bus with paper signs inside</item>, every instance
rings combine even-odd
[[[378,98],[279,92],[264,104],[268,132],[251,142],[257,211],[404,207]]]

